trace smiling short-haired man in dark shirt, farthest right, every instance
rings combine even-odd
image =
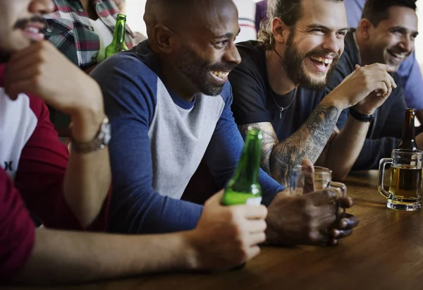
[[[379,62],[398,69],[414,51],[418,34],[415,11],[415,1],[367,0],[357,30],[350,30],[345,37],[345,51],[329,75],[328,92],[352,73],[357,64],[367,66]],[[396,83],[400,83],[397,73],[391,75]],[[399,85],[376,110],[376,118],[353,169],[377,169],[381,158],[391,156],[391,151],[400,143],[404,112],[404,91]],[[338,120],[339,128],[345,123],[348,109],[345,113]],[[423,133],[417,135],[416,145],[423,149]]]

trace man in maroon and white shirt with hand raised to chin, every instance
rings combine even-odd
[[[223,270],[257,255],[266,208],[223,207],[222,193],[207,201],[192,231],[118,236],[58,230],[105,229],[110,132],[97,83],[39,33],[41,15],[52,9],[51,0],[0,0],[0,281]],[[71,116],[70,157],[44,102]],[[35,229],[28,210],[44,227]]]

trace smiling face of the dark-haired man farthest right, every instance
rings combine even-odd
[[[372,62],[398,68],[415,49],[417,15],[413,9],[400,6],[388,8],[388,15],[376,27],[369,25],[366,54],[372,56]]]

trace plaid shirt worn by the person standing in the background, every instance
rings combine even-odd
[[[97,15],[114,32],[116,16],[120,13],[114,1],[93,0]],[[65,54],[73,64],[86,68],[97,64],[100,49],[99,36],[94,32],[87,12],[79,0],[54,0],[55,11],[44,16],[47,21],[46,40]],[[125,42],[133,47],[134,35],[127,26]]]

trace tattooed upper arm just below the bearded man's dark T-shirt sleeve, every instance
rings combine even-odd
[[[260,123],[250,123],[250,124],[238,126],[241,132],[241,135],[243,135],[244,140],[247,137],[248,127],[250,126],[254,128],[259,128],[263,132],[261,167],[264,171],[267,172],[267,174],[270,175],[271,152],[274,150],[276,144],[278,144],[278,137],[276,136],[276,133],[273,130],[271,131],[266,130],[265,128],[263,128],[263,126],[261,126]]]

